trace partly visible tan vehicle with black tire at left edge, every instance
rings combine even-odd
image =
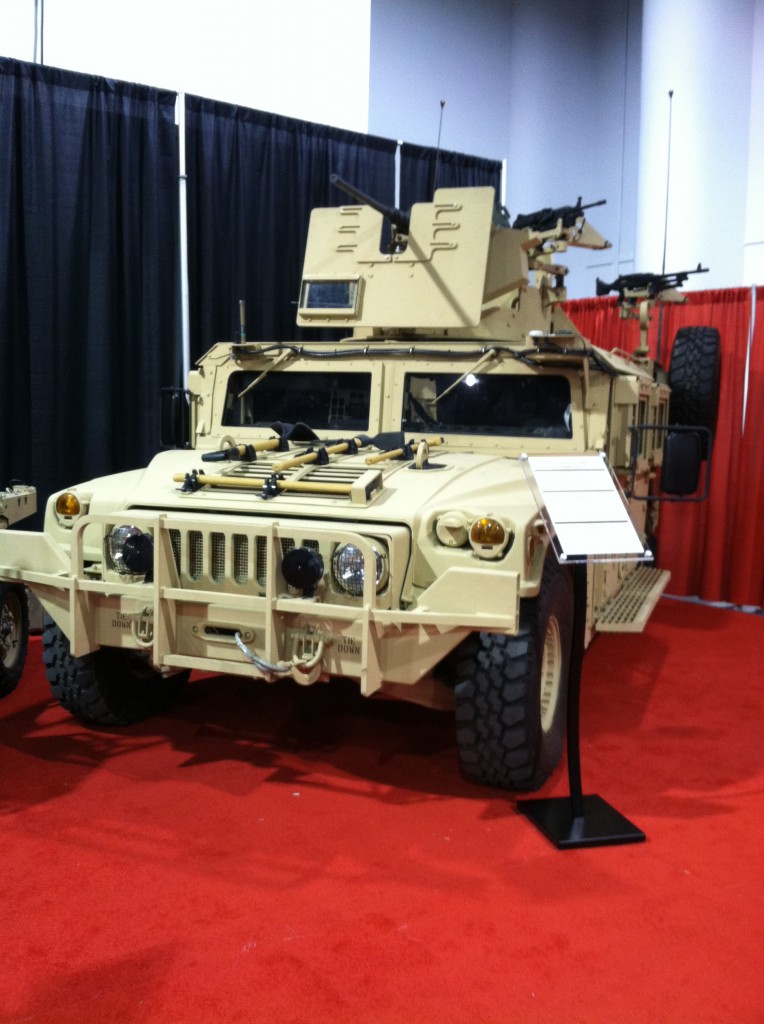
[[[37,511],[37,490],[13,482],[0,490],[0,530]],[[29,601],[18,583],[0,581],[0,697],[18,685],[27,659]]]

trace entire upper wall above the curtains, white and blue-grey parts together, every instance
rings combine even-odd
[[[595,278],[764,283],[764,0],[45,0],[45,63],[507,162],[514,215],[606,199]],[[34,56],[35,0],[0,2]]]

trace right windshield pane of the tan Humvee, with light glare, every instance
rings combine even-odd
[[[448,392],[448,393],[447,393]],[[572,437],[566,377],[407,374],[404,430]]]

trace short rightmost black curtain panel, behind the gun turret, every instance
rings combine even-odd
[[[435,188],[493,185],[501,201],[502,164],[463,153],[437,151],[404,142],[400,146],[400,206],[429,203]]]

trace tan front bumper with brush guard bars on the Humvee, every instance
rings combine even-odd
[[[150,583],[103,579],[93,562],[103,535],[125,521],[154,535]],[[283,553],[305,536],[325,552],[347,543],[362,551],[363,597],[341,597],[328,586],[311,597],[288,592]],[[372,544],[380,538],[389,546],[390,583],[377,594]],[[472,632],[517,630],[518,575],[485,562],[447,569],[400,607],[394,595],[409,563],[404,527],[370,526],[362,535],[315,521],[130,511],[83,516],[71,542],[67,552],[47,534],[0,534],[0,579],[30,587],[76,656],[128,647],[167,673],[291,675],[301,683],[345,676],[370,694],[385,682],[420,682]]]

